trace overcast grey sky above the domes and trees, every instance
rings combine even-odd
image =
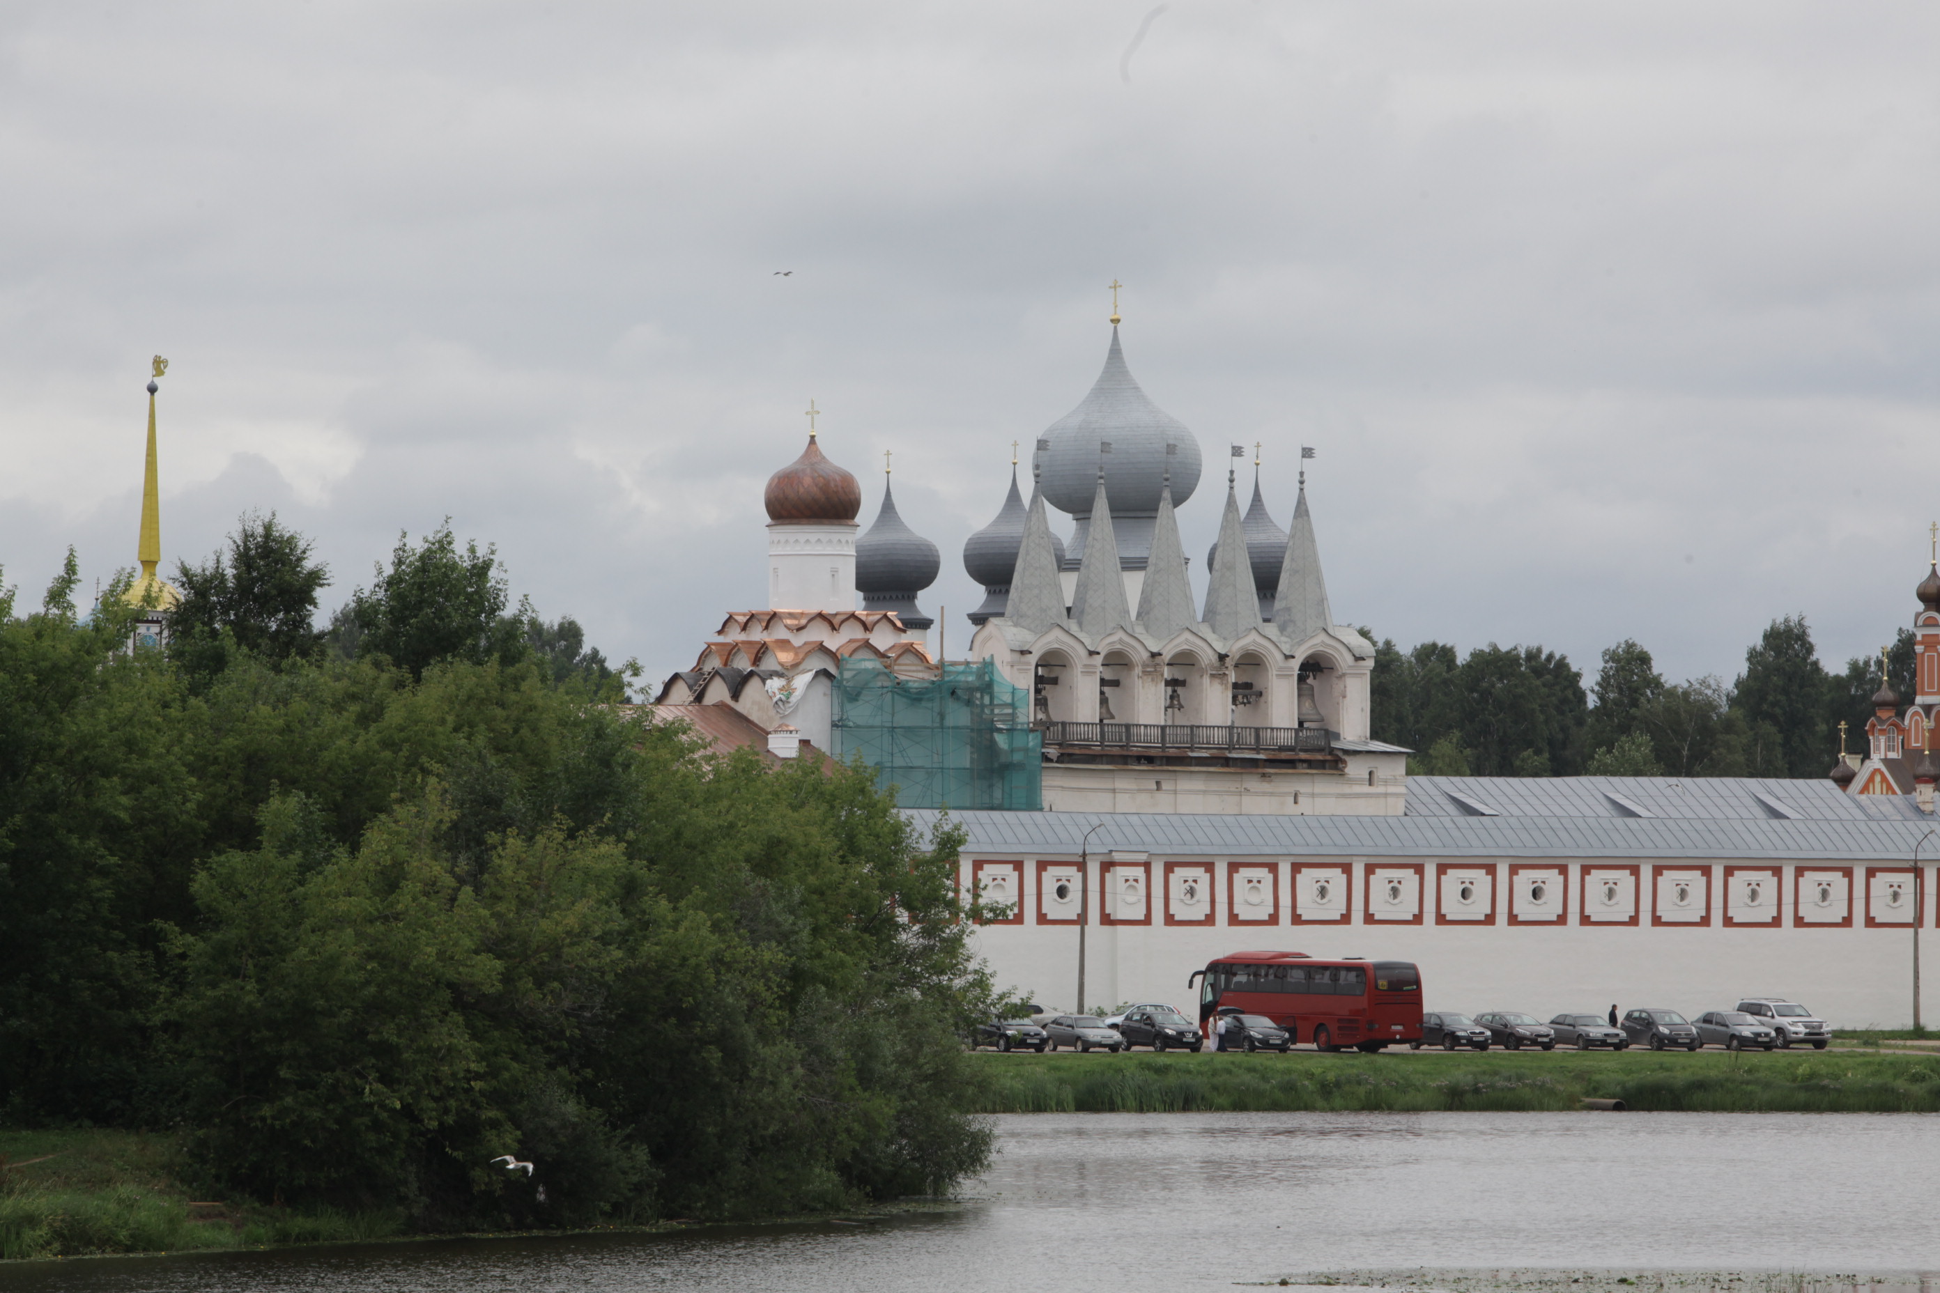
[[[956,653],[1114,277],[1207,456],[1195,572],[1261,440],[1403,646],[1729,680],[1804,613],[1837,667],[1924,574],[1932,4],[14,0],[0,43],[27,601],[134,562],[161,353],[169,570],[274,508],[328,613],[450,516],[663,678],[762,605],[813,397],[863,523],[896,452]]]

